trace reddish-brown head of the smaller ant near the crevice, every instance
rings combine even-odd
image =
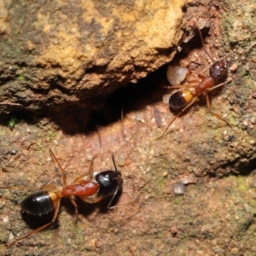
[[[216,61],[210,67],[209,74],[214,79],[215,83],[222,82],[228,75],[229,63],[225,60]]]

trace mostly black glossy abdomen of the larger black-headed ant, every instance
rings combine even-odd
[[[41,216],[55,209],[55,193],[51,191],[38,191],[28,195],[21,203],[22,212]]]

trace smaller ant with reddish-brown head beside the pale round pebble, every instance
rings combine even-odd
[[[198,28],[198,31],[201,36],[201,31],[199,28]],[[202,40],[202,36],[201,36],[201,40]],[[207,50],[206,49],[204,50],[207,53]],[[207,55],[209,54],[207,53]],[[226,82],[223,82],[223,81],[224,79],[227,78],[230,63],[231,61],[226,61],[226,60],[216,61],[210,67],[208,76],[203,75],[201,73],[197,74],[198,78],[201,80],[197,79],[197,80],[191,81],[189,84],[172,86],[173,89],[182,89],[182,90],[178,90],[177,92],[172,94],[172,96],[170,96],[169,106],[172,109],[181,109],[181,110],[179,113],[177,113],[177,115],[173,117],[173,119],[167,125],[166,130],[160,135],[158,139],[160,139],[166,134],[166,131],[168,130],[170,125],[172,125],[172,123],[177,119],[177,117],[179,117],[190,106],[192,106],[199,99],[201,95],[205,95],[207,97],[207,108],[209,112],[212,113],[209,92],[226,84]],[[220,117],[217,113],[212,113],[212,114],[215,115],[218,119],[222,119],[227,125],[230,125],[230,123],[227,120]]]

